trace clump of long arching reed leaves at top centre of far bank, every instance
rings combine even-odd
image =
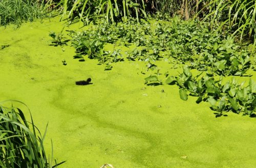
[[[107,22],[127,21],[130,18],[146,18],[144,1],[134,0],[61,0],[58,6],[62,6],[62,17],[78,17],[79,20],[89,23],[94,18],[103,17]]]

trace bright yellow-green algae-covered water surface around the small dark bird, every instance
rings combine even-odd
[[[52,139],[53,158],[67,160],[60,167],[256,165],[254,118],[215,118],[208,103],[181,100],[176,86],[146,86],[142,62],[115,63],[111,71],[79,62],[69,45],[49,45],[49,32],[62,27],[58,19],[0,27],[0,45],[10,45],[0,50],[0,101],[26,103],[41,132],[49,122],[45,147],[50,154]],[[75,85],[88,77],[92,85]]]

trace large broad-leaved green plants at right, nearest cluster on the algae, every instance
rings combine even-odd
[[[202,74],[202,73],[201,73]],[[233,111],[244,115],[254,116],[256,110],[256,83],[250,78],[249,85],[238,83],[235,78],[222,84],[222,78],[216,80],[212,74],[201,74],[193,77],[188,66],[183,66],[183,73],[178,76],[169,76],[166,83],[179,86],[180,98],[187,100],[188,95],[198,97],[197,103],[208,101],[210,108],[215,110],[216,117],[223,112]]]

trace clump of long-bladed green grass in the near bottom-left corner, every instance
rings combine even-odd
[[[21,102],[20,102],[21,103]],[[23,103],[22,103],[23,104]],[[25,118],[23,111],[0,104],[0,166],[55,167],[48,162],[40,131]],[[32,129],[31,129],[32,128]]]

